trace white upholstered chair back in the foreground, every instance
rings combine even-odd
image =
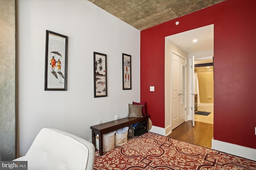
[[[57,129],[43,128],[25,156],[28,170],[92,170],[95,147],[92,143]]]

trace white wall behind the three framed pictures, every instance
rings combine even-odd
[[[44,91],[46,29],[68,36],[67,91]],[[94,51],[107,55],[108,97],[94,98]],[[132,55],[132,90],[122,90],[122,53]],[[140,31],[87,0],[18,0],[18,74],[21,156],[43,127],[91,140],[99,119],[140,102]]]

